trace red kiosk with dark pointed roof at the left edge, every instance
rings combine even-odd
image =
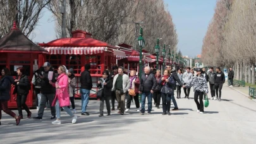
[[[13,23],[11,31],[0,39],[0,69],[4,67],[11,71],[15,78],[16,69],[20,66],[26,69],[26,75],[31,81],[34,70],[38,69],[44,63],[43,57],[48,52],[39,45],[29,40]],[[14,87],[11,88],[11,99],[8,102],[9,108],[16,108],[16,95],[12,95]],[[33,89],[28,93],[26,104],[33,106]]]

